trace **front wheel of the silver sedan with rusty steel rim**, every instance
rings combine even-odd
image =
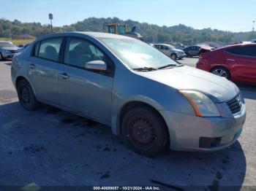
[[[159,114],[147,107],[130,109],[121,122],[126,144],[148,157],[166,151],[169,133]]]

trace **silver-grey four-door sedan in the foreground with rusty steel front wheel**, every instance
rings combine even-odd
[[[97,120],[142,155],[224,149],[246,118],[233,82],[127,36],[42,36],[15,56],[11,71],[24,109],[43,102]]]

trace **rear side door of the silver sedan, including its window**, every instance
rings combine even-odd
[[[41,101],[59,104],[58,70],[62,37],[44,39],[34,45],[29,58],[28,76]]]

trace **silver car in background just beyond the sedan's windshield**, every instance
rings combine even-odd
[[[182,59],[185,57],[185,52],[183,50],[176,49],[176,47],[173,47],[170,44],[154,44],[153,46],[161,52],[164,52],[165,55],[170,56],[170,58]]]

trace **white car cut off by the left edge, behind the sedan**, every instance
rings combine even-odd
[[[9,41],[0,41],[0,61],[6,58],[12,58],[19,52],[19,47]]]

